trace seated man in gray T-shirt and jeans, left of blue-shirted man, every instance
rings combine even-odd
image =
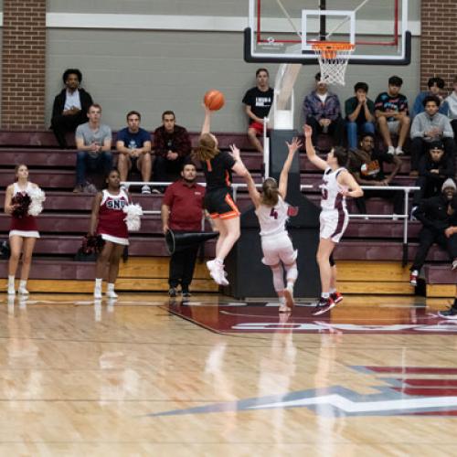
[[[86,182],[86,170],[107,175],[112,169],[112,129],[100,122],[101,106],[90,105],[87,114],[89,122],[78,126],[75,133],[76,148],[76,187],[73,192],[97,191],[96,187]]]

